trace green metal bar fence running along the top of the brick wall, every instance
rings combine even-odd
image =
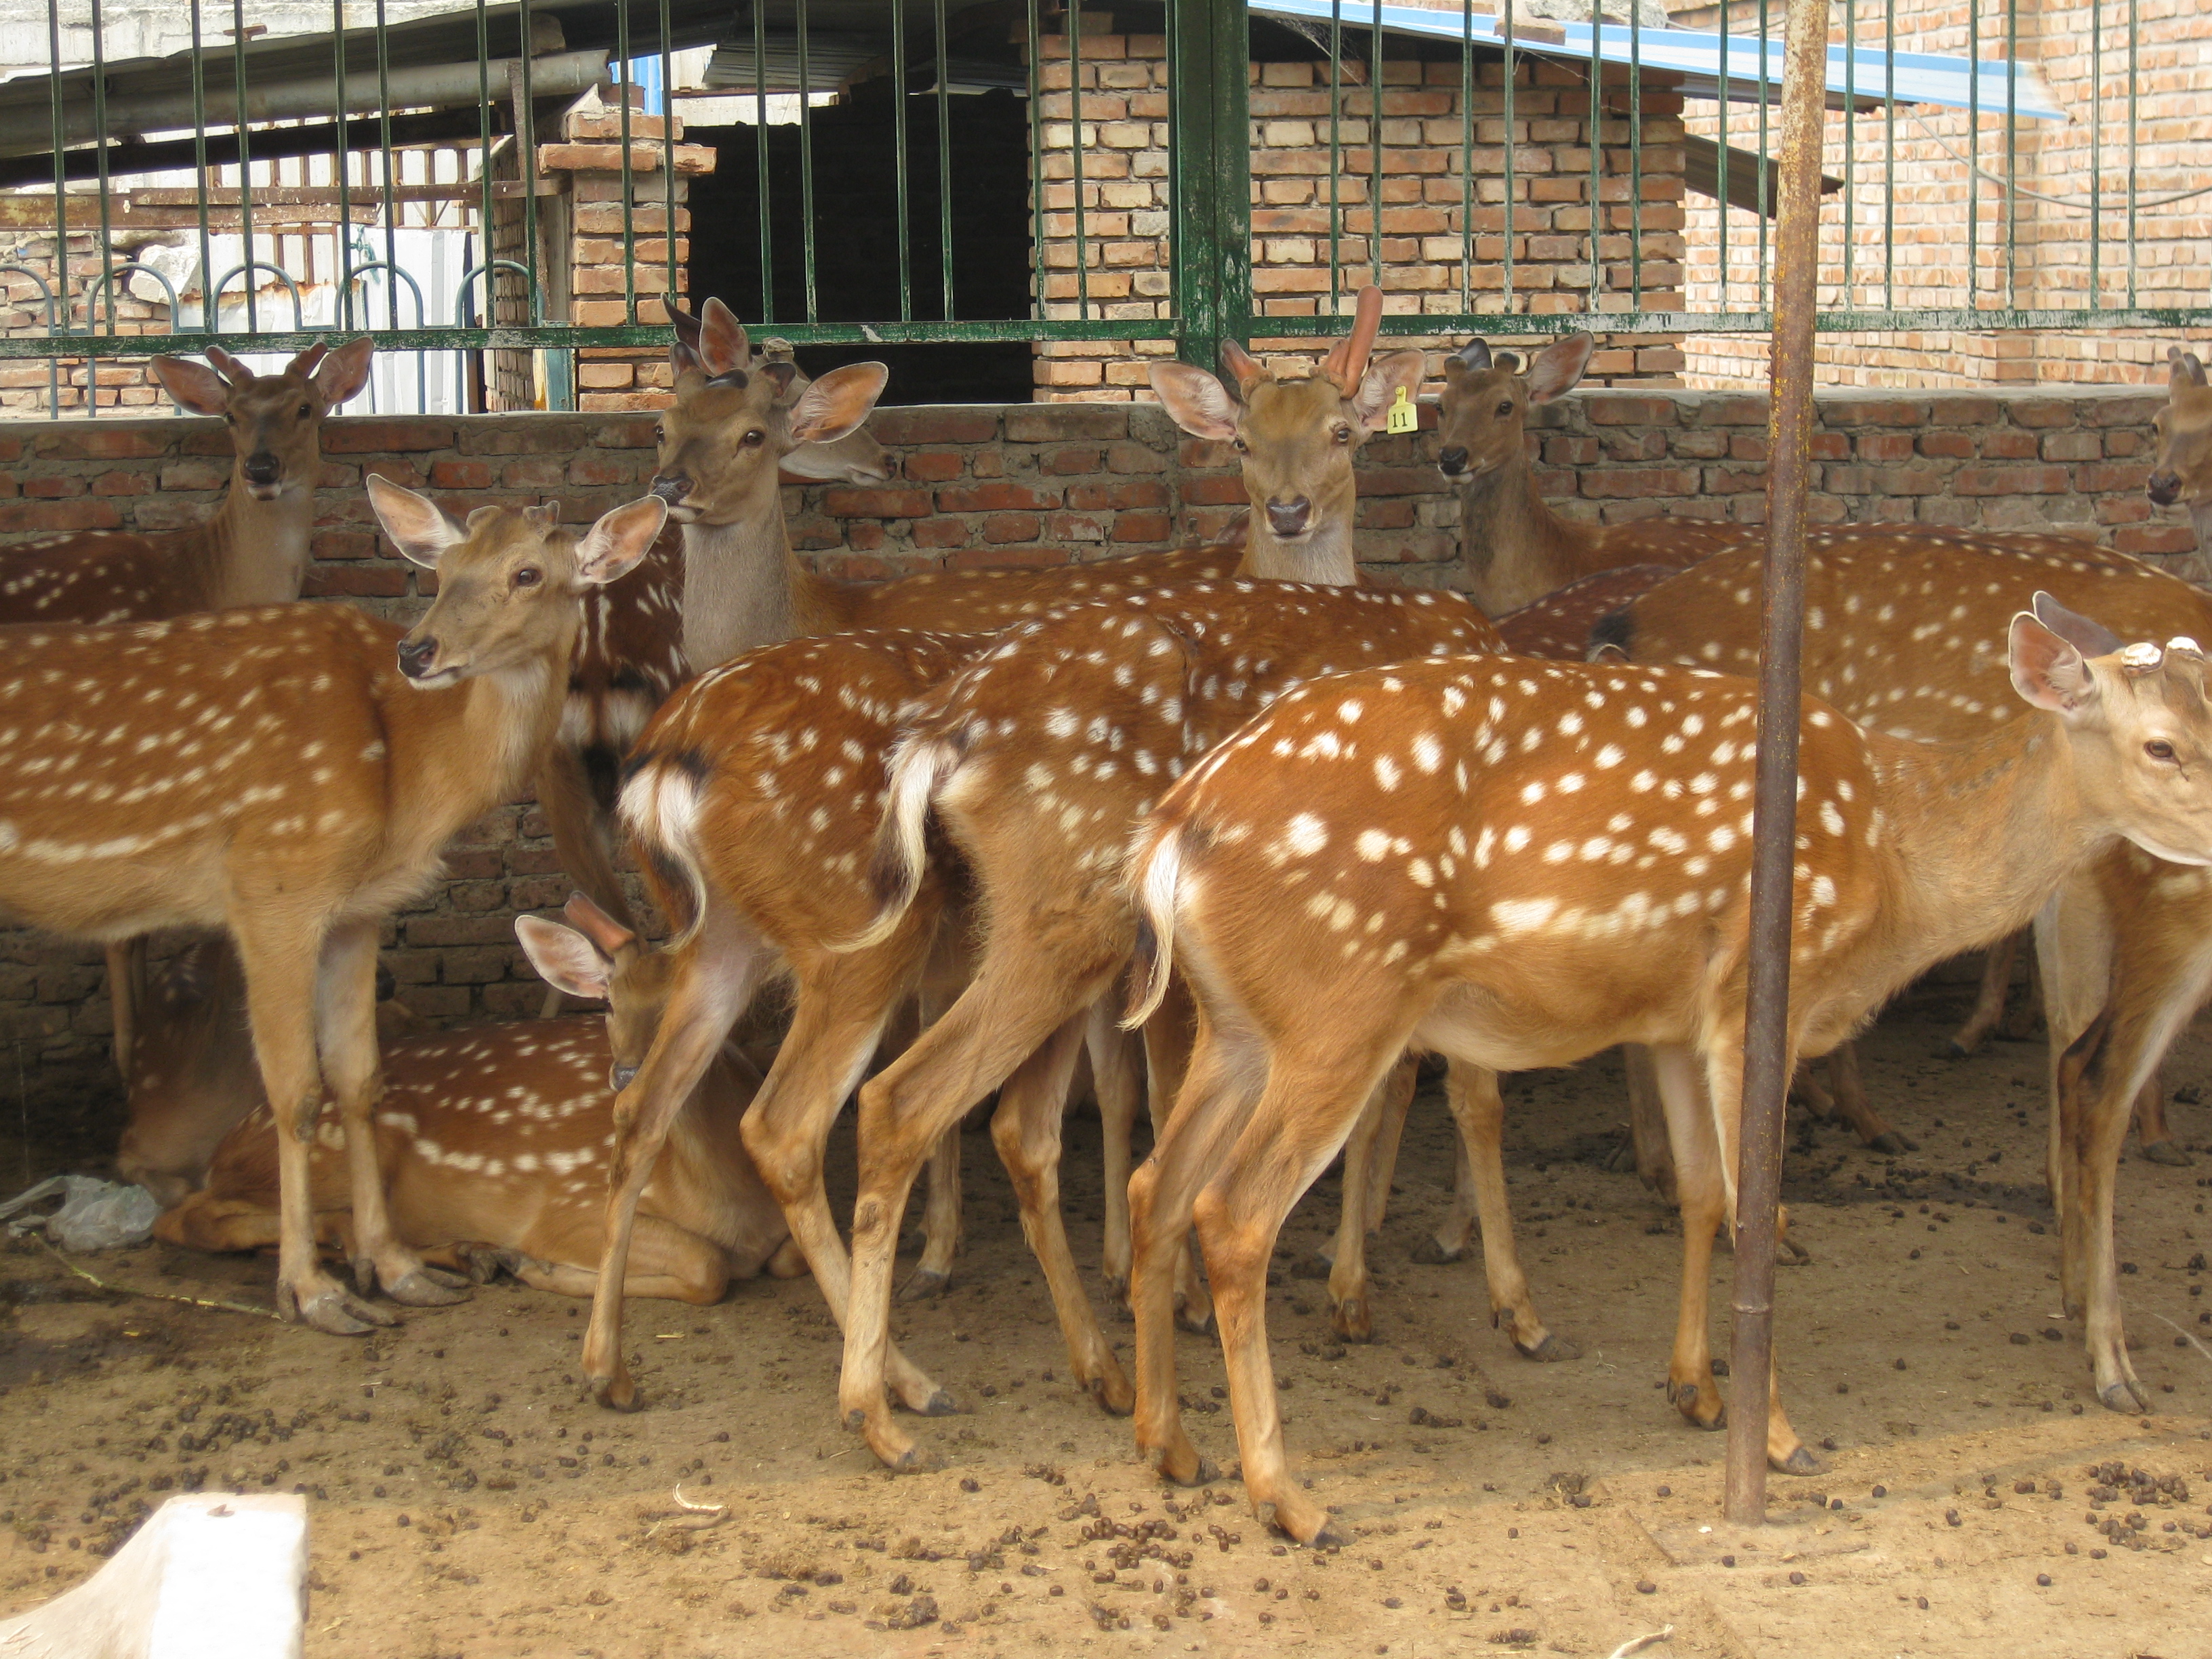
[[[1610,0],[1610,9],[1593,0],[1586,20],[1517,15],[1515,0],[1498,7],[741,0],[732,11],[730,0],[442,9],[332,0],[325,31],[270,35],[246,0],[188,0],[166,13],[175,51],[115,62],[117,0],[46,0],[46,64],[18,66],[0,82],[0,226],[18,237],[15,257],[0,261],[18,274],[0,270],[0,281],[22,281],[24,305],[38,307],[0,334],[0,358],[119,361],[192,352],[215,336],[230,349],[274,352],[363,323],[387,352],[551,352],[566,363],[575,349],[659,347],[666,330],[655,301],[684,288],[688,272],[672,234],[679,142],[655,111],[684,108],[692,93],[752,106],[739,117],[763,135],[752,153],[757,237],[748,232],[761,307],[748,321],[799,345],[1141,338],[1172,341],[1210,363],[1223,338],[1334,332],[1349,292],[1378,268],[1385,290],[1418,299],[1418,312],[1385,321],[1400,334],[1553,332],[1568,316],[1617,334],[1765,332],[1778,4],[1723,0],[1668,27],[1635,0]],[[1102,124],[1084,113],[1086,100],[1093,115],[1110,102],[1084,58],[1084,42],[1104,38],[1095,33],[1104,18],[1124,53],[1130,40],[1157,40],[1166,64],[1166,97],[1137,117],[1164,128],[1170,188],[1155,261],[1166,292],[1144,305],[1102,292],[1113,274],[1102,243],[1119,257],[1133,241],[1102,234],[1119,210],[1095,177],[1108,159]],[[2199,40],[2197,58],[2212,60],[2212,27],[2197,35],[2185,18],[2146,24],[2139,0],[2079,0],[2037,20],[2044,53],[2024,62],[2020,0],[1969,0],[1962,29],[1949,33],[1911,0],[1838,9],[1827,62],[1838,177],[1823,217],[1823,330],[2212,323],[2212,268],[2190,263],[2201,259],[2190,252],[2201,239],[2174,234],[2174,210],[2205,188],[2146,188],[2154,168],[2141,153],[2146,131],[2163,131],[2166,119],[2163,106],[2146,113],[2143,42],[2166,29],[2163,40]],[[679,60],[706,49],[714,84],[679,86]],[[1263,188],[1254,153],[1267,144],[1254,146],[1250,82],[1254,62],[1298,53],[1314,64],[1314,100],[1325,93],[1305,153],[1316,179],[1310,241],[1325,243],[1327,281],[1314,276],[1285,299],[1254,290],[1254,272],[1270,270],[1252,228]],[[1391,88],[1407,84],[1409,62],[1420,66],[1425,113],[1398,117]],[[1057,95],[1044,84],[1053,64],[1068,71],[1064,124],[1044,115]],[[823,184],[816,128],[827,117],[816,100],[878,82],[891,104],[889,144],[880,184],[856,201],[849,188]],[[1265,73],[1261,82],[1265,93]],[[593,86],[606,88],[615,133],[604,144],[619,155],[622,310],[580,325],[562,314],[568,272],[549,270],[564,259],[544,234],[560,192],[540,157],[562,113]],[[1022,201],[964,197],[953,111],[978,91],[1026,104]],[[2159,93],[2172,95],[2170,86]],[[1677,100],[1688,100],[1681,117]],[[772,177],[772,104],[796,126],[796,237],[772,212],[772,197],[787,188]],[[1449,108],[1438,115],[1436,106]],[[1057,126],[1071,133],[1064,179],[1048,166]],[[1444,226],[1436,234],[1391,228],[1405,199],[1394,168],[1409,148],[1431,168],[1418,175],[1418,206]],[[456,177],[414,179],[409,157],[429,153],[449,157]],[[2079,164],[2042,166],[2075,153]],[[2073,188],[2022,184],[2028,164],[2042,168],[2037,181],[2064,177]],[[285,168],[321,181],[283,184]],[[161,177],[181,184],[161,186]],[[1705,206],[1686,215],[1670,195],[1677,177]],[[1922,281],[1920,265],[1900,265],[1900,252],[1913,250],[1909,234],[1929,230],[1931,188],[1951,192],[1938,215],[1942,250],[1958,265],[1949,290]],[[1551,215],[1544,237],[1522,228],[1524,215],[1540,217],[1540,197]],[[644,223],[653,208],[668,230]],[[447,212],[471,250],[451,321],[425,312],[420,272],[407,270],[403,248],[409,215]],[[852,212],[891,226],[898,301],[885,314],[836,314],[825,303],[832,274],[818,259],[821,230],[830,215]],[[975,212],[1026,219],[1031,301],[1004,307],[1018,314],[980,314],[956,283],[956,246]],[[166,316],[117,316],[117,296],[142,276],[168,281],[139,257],[135,226],[197,246],[197,319],[175,294]],[[24,239],[35,243],[42,228],[53,239],[51,274],[24,265]],[[330,250],[314,252],[316,270],[288,270],[283,248],[312,252],[319,239]],[[226,263],[217,243],[241,257],[210,281]],[[1398,243],[1418,243],[1420,285],[1398,281],[1409,263],[1394,254]],[[1055,250],[1071,250],[1073,263],[1055,265]],[[1323,257],[1312,263],[1318,272]],[[779,310],[779,279],[794,268],[803,303]],[[1055,301],[1048,290],[1062,268],[1073,270],[1075,292]],[[217,301],[230,283],[243,307],[226,323]],[[378,283],[387,303],[374,307],[367,288]],[[416,288],[411,325],[398,301],[405,283]],[[321,323],[310,323],[303,290],[314,305],[330,299]],[[1931,294],[1942,303],[1929,303]],[[555,403],[573,392],[562,374],[546,374],[544,385]]]

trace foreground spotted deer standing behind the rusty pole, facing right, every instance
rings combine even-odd
[[[2174,641],[2090,661],[2068,644],[2090,633],[2046,595],[2017,615],[2011,679],[2035,712],[1973,743],[1885,739],[1805,701],[1794,1051],[1834,1046],[1931,962],[2020,927],[2121,836],[2212,863],[2203,657]],[[1164,1285],[1164,1243],[1197,1219],[1245,1489],[1292,1537],[1336,1537],[1287,1478],[1265,1270],[1407,1042],[1498,1071],[1655,1046],[1683,1214],[1668,1383],[1692,1422],[1721,1420],[1705,1298],[1734,1208],[1754,728],[1741,679],[1420,661],[1301,688],[1161,801],[1130,858],[1133,1018],[1170,953],[1201,1006],[1190,1079],[1130,1183],[1137,1440],[1166,1475],[1203,1469]],[[1765,1387],[1767,1458],[1812,1473]]]

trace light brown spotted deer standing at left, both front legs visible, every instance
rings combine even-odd
[[[314,1261],[307,1139],[327,1082],[347,1128],[363,1292],[453,1301],[392,1232],[369,1155],[376,931],[507,801],[560,723],[577,593],[661,529],[657,500],[582,535],[555,509],[460,526],[380,478],[369,502],[438,597],[400,630],[349,606],[24,630],[0,679],[0,911],[93,940],[221,927],[276,1108],[279,1307],[334,1334],[389,1323]]]

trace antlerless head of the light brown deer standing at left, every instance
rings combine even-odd
[[[560,529],[553,502],[478,507],[456,524],[436,502],[374,473],[369,507],[400,553],[438,573],[438,597],[400,639],[400,672],[420,690],[542,668],[555,655],[566,666],[577,597],[637,564],[668,518],[646,495],[582,535]]]

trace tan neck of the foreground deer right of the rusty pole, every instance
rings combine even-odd
[[[1896,984],[2017,931],[2115,838],[2084,799],[2073,741],[2051,714],[2022,714],[1971,743],[1869,745],[1900,900],[1887,927]]]

